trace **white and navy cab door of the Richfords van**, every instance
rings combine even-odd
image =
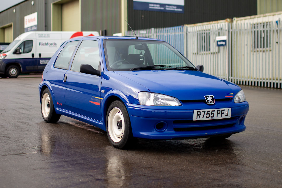
[[[22,72],[37,72],[37,59],[35,40],[25,40],[17,48],[20,48],[20,54],[15,53],[16,61],[21,64]]]

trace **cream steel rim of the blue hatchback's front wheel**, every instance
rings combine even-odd
[[[122,128],[118,129],[117,122],[122,121]],[[113,108],[108,117],[108,132],[112,141],[118,143],[124,136],[124,116],[119,108]]]

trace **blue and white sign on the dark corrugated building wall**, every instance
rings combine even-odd
[[[184,0],[133,0],[134,10],[184,13]]]

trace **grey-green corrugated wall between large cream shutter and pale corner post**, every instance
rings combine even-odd
[[[107,30],[107,35],[121,32],[121,4],[117,0],[81,1],[81,30]]]

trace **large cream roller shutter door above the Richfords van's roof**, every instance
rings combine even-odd
[[[62,31],[80,31],[79,0],[62,4]]]

